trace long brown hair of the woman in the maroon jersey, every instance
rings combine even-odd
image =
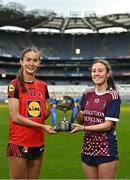
[[[107,78],[107,85],[108,85],[108,90],[110,90],[111,88],[116,90],[116,86],[115,86],[115,82],[113,79],[113,75],[112,75],[112,68],[110,63],[107,60],[104,59],[98,59],[93,61],[92,66],[96,63],[102,63],[104,64],[104,66],[106,67],[107,73],[110,73],[110,76]]]

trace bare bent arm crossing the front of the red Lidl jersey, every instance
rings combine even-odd
[[[43,125],[37,122],[33,122],[30,119],[19,114],[19,100],[16,98],[9,98],[9,113],[12,121],[27,127],[43,128],[48,133],[55,133],[54,129],[49,125]]]

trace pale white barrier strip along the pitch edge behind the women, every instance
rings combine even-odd
[[[0,102],[7,102],[7,88],[6,85],[0,86]],[[71,97],[82,96],[82,93],[86,89],[90,89],[92,86],[87,85],[48,85],[50,98],[61,98],[64,95]],[[120,93],[121,99],[125,101],[130,101],[130,84],[118,84],[117,89]]]

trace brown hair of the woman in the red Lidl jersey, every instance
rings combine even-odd
[[[40,60],[40,56],[41,56],[41,53],[40,51],[38,50],[38,48],[35,48],[35,47],[27,47],[25,48],[22,53],[21,53],[21,58],[20,60],[23,61],[24,59],[24,56],[28,53],[28,52],[36,52],[36,53],[39,53],[39,60]],[[22,91],[25,93],[27,92],[27,89],[25,87],[25,82],[24,82],[24,77],[23,77],[23,68],[21,67],[18,71],[18,75],[17,75],[17,78],[18,78],[18,81],[20,83],[20,87],[22,88]]]

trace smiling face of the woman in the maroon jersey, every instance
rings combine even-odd
[[[107,86],[110,72],[107,71],[107,67],[103,63],[97,62],[92,66],[91,76],[96,86]]]

